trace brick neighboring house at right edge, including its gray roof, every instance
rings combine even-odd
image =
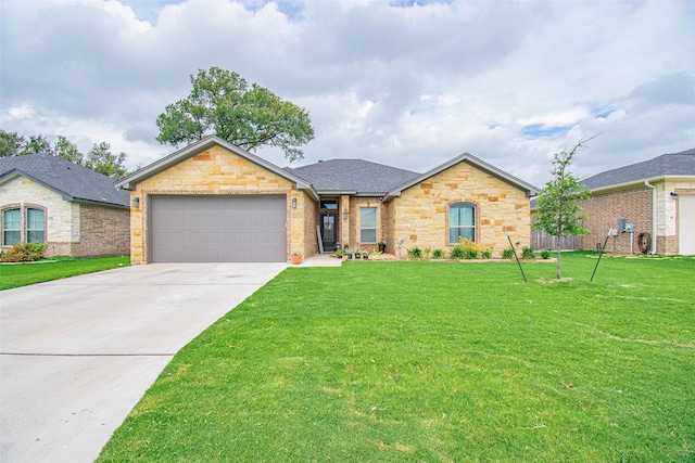
[[[695,255],[695,149],[664,154],[582,180],[592,192],[582,202],[591,234],[582,247],[595,249],[619,219],[634,223],[632,250]],[[630,233],[609,237],[606,249],[630,252]]]

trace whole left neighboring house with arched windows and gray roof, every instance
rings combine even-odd
[[[129,195],[111,178],[48,154],[0,158],[2,250],[46,243],[47,256],[127,254]]]

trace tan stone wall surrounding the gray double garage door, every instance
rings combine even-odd
[[[138,183],[130,192],[139,207],[130,210],[130,261],[148,263],[148,197],[194,194],[285,194],[287,197],[287,260],[317,253],[317,204],[291,181],[222,147],[214,146]],[[296,207],[292,208],[292,200]]]

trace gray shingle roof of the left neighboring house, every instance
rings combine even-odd
[[[65,201],[130,207],[130,194],[116,189],[113,179],[49,154],[0,158],[0,183],[26,177],[55,191]]]

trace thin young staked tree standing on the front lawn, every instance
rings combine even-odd
[[[553,178],[539,192],[536,202],[533,228],[544,230],[551,236],[555,236],[558,280],[561,278],[561,239],[589,232],[581,224],[581,221],[586,217],[580,214],[581,208],[578,201],[586,200],[590,191],[569,171],[572,158],[580,147],[584,147],[584,143],[585,141],[582,140],[569,153],[561,151],[553,155],[553,168],[551,169]]]

